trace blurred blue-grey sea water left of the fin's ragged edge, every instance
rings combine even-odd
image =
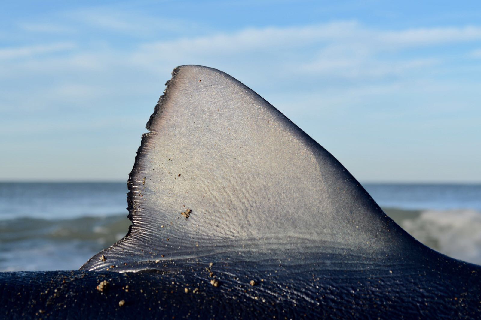
[[[126,183],[0,183],[0,271],[76,270],[127,234]]]

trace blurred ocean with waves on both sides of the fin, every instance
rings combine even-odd
[[[481,264],[481,185],[363,184],[419,241]],[[74,270],[127,234],[126,183],[0,183],[0,271]]]

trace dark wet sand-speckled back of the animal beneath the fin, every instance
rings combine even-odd
[[[210,267],[192,262],[167,263],[162,266],[165,271],[138,273],[5,272],[0,279],[0,316],[476,319],[480,312],[479,268],[469,264],[439,261],[420,268],[396,268],[389,276],[384,268],[313,271],[316,266],[272,267],[277,272],[252,265],[236,269],[230,263]],[[210,283],[212,279],[219,281],[217,287]],[[101,292],[96,287],[104,280],[108,284]],[[125,301],[122,307],[121,300]]]

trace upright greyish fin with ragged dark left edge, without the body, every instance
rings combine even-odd
[[[281,112],[216,69],[177,67],[128,181],[128,234],[81,269],[263,252],[385,257],[421,248]],[[402,251],[402,250],[401,250]]]

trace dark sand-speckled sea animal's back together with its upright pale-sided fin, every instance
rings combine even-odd
[[[1,315],[480,316],[479,266],[405,233],[329,152],[228,74],[176,68],[147,128],[128,234],[81,271],[2,273]]]

